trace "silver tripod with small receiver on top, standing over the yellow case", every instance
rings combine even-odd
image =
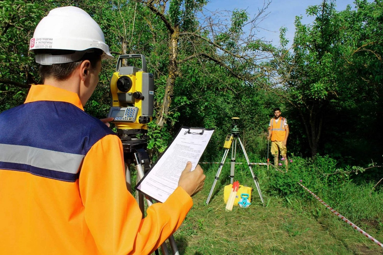
[[[243,146],[242,141],[239,138],[239,128],[238,128],[237,122],[236,122],[237,120],[239,120],[239,118],[238,117],[233,117],[231,119],[233,120],[233,128],[231,129],[231,135],[226,136],[226,140],[225,140],[225,143],[224,143],[224,146],[223,146],[225,148],[225,152],[223,154],[222,161],[219,164],[217,174],[216,174],[216,176],[214,178],[213,186],[211,187],[210,193],[208,195],[208,199],[206,200],[206,205],[208,205],[209,202],[210,202],[211,195],[213,194],[213,191],[214,191],[214,187],[215,187],[215,185],[217,183],[217,180],[219,179],[219,174],[221,174],[221,170],[222,170],[222,167],[223,167],[224,162],[226,160],[226,157],[228,156],[229,149],[230,149],[230,147],[232,145],[232,142],[234,141],[234,147],[231,148],[231,165],[230,165],[230,183],[231,184],[233,183],[233,180],[234,180],[234,167],[235,167],[235,163],[236,163],[237,140],[239,141],[239,144],[241,145],[242,152],[244,153],[244,156],[246,158],[247,164],[249,166],[251,175],[252,175],[253,180],[255,182],[255,186],[257,187],[258,194],[259,194],[259,197],[260,197],[260,199],[262,201],[262,204],[265,205],[265,201],[264,201],[264,199],[262,197],[262,193],[261,193],[261,190],[259,188],[258,178],[254,174],[254,171],[253,171],[253,169],[251,167],[251,164],[250,164],[250,161],[249,161],[249,157],[247,156],[245,147]]]

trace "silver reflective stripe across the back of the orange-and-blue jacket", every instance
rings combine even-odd
[[[77,174],[85,155],[51,151],[24,145],[0,144],[0,161]]]

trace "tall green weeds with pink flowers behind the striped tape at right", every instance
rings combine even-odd
[[[265,191],[291,199],[309,201],[315,200],[309,192],[298,185],[301,183],[328,205],[351,221],[383,219],[383,193],[375,182],[365,182],[353,179],[358,174],[364,174],[361,167],[347,166],[338,168],[337,161],[329,156],[316,156],[314,159],[304,159],[292,156],[288,171],[275,171],[270,167],[265,182]],[[363,178],[362,178],[363,179]],[[310,203],[304,203],[309,208]],[[318,202],[318,207],[322,205]]]

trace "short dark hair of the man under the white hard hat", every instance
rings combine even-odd
[[[74,50],[44,50],[44,52],[39,52],[35,50],[35,54],[52,54],[52,55],[66,55],[73,54]],[[61,64],[52,64],[52,65],[39,65],[39,75],[41,80],[44,80],[48,77],[55,78],[56,80],[63,81],[79,66],[84,60],[90,61],[90,66],[95,68],[97,62],[101,60],[102,50],[94,49],[94,52],[85,53],[82,58],[75,62],[61,63]]]

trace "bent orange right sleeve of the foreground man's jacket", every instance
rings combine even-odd
[[[125,183],[119,138],[107,135],[85,156],[79,177],[85,222],[102,254],[149,254],[181,225],[193,205],[178,187],[165,203],[147,209],[146,218]]]

